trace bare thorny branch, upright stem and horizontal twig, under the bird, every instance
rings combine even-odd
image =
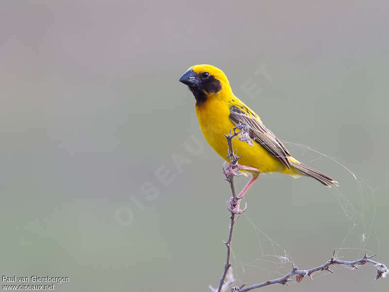
[[[237,128],[239,128],[241,131],[240,132],[236,132]],[[253,289],[265,287],[265,286],[272,285],[272,284],[288,285],[288,281],[291,281],[290,277],[293,276],[293,275],[296,275],[297,283],[301,283],[301,281],[304,278],[304,276],[309,276],[312,279],[312,274],[315,273],[315,272],[328,271],[328,272],[330,272],[332,274],[335,274],[330,269],[331,265],[343,265],[343,266],[350,267],[352,270],[354,270],[354,269],[359,269],[358,265],[360,266],[360,265],[364,265],[366,263],[371,263],[377,269],[377,274],[375,276],[375,279],[377,280],[379,278],[385,278],[389,274],[388,267],[385,264],[383,264],[383,263],[379,263],[379,262],[376,262],[376,261],[371,259],[373,256],[376,256],[376,255],[368,256],[367,253],[366,253],[365,256],[363,256],[360,259],[357,259],[357,260],[354,260],[354,261],[344,261],[344,260],[339,260],[339,259],[336,258],[336,256],[335,256],[336,250],[334,250],[334,253],[333,253],[332,257],[326,263],[324,263],[321,266],[318,266],[316,268],[312,268],[312,269],[309,269],[309,270],[299,270],[299,266],[296,267],[292,263],[292,271],[290,271],[288,274],[285,274],[281,278],[267,280],[265,282],[262,282],[262,283],[259,283],[259,284],[254,284],[254,285],[247,286],[247,287],[244,287],[244,286],[246,286],[246,284],[244,284],[244,285],[242,285],[240,287],[230,286],[235,281],[235,279],[233,278],[232,269],[230,269],[230,267],[231,267],[230,255],[231,255],[232,233],[233,233],[233,228],[234,228],[234,225],[235,225],[235,213],[232,212],[233,208],[231,208],[231,207],[236,206],[238,200],[240,200],[240,198],[237,198],[236,194],[235,194],[234,176],[240,176],[241,175],[241,174],[237,174],[237,173],[235,173],[233,171],[233,167],[235,165],[237,165],[238,160],[241,157],[238,157],[236,155],[236,151],[235,152],[233,151],[232,139],[234,137],[240,135],[241,138],[239,138],[239,140],[244,141],[244,142],[248,143],[249,145],[252,145],[252,144],[250,144],[251,141],[249,141],[249,139],[247,137],[247,133],[248,133],[248,127],[239,124],[239,125],[237,125],[236,127],[233,128],[233,133],[232,134],[231,134],[231,130],[230,130],[230,134],[229,135],[225,135],[226,139],[227,139],[228,146],[229,146],[227,158],[230,159],[230,164],[229,164],[228,169],[232,170],[230,172],[229,171],[226,172],[226,170],[224,168],[224,165],[223,165],[223,171],[224,171],[224,174],[226,175],[226,181],[228,181],[230,183],[231,192],[232,192],[232,198],[230,199],[230,208],[227,207],[230,210],[230,213],[231,213],[231,216],[230,216],[230,233],[229,233],[229,237],[228,237],[227,242],[224,242],[226,244],[226,246],[227,246],[227,259],[226,259],[226,263],[224,265],[224,271],[223,271],[222,277],[220,278],[220,283],[219,283],[218,289],[217,290],[213,289],[212,286],[210,286],[212,292],[216,292],[216,291],[217,292],[222,292],[222,291],[224,292],[224,291],[227,291],[228,287],[230,287],[230,291],[231,292],[247,292],[247,291],[250,291],[250,290],[253,290]],[[243,212],[245,210],[246,210],[246,208],[243,210]],[[227,281],[225,282],[226,276],[227,276]]]

